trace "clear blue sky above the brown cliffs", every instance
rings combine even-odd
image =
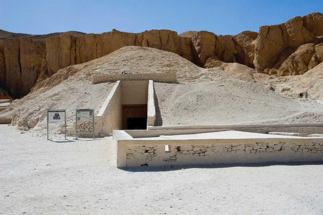
[[[311,12],[323,13],[323,1],[1,0],[0,29],[26,34],[169,29],[233,35]]]

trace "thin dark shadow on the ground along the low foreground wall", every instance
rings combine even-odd
[[[214,169],[214,168],[230,168],[230,167],[266,167],[266,166],[300,166],[300,165],[322,165],[323,161],[304,161],[304,162],[266,162],[266,163],[230,163],[230,164],[193,164],[193,165],[171,165],[171,166],[158,166],[158,167],[125,167],[121,168],[124,171],[130,172],[160,172],[160,171],[175,171],[182,169]]]

